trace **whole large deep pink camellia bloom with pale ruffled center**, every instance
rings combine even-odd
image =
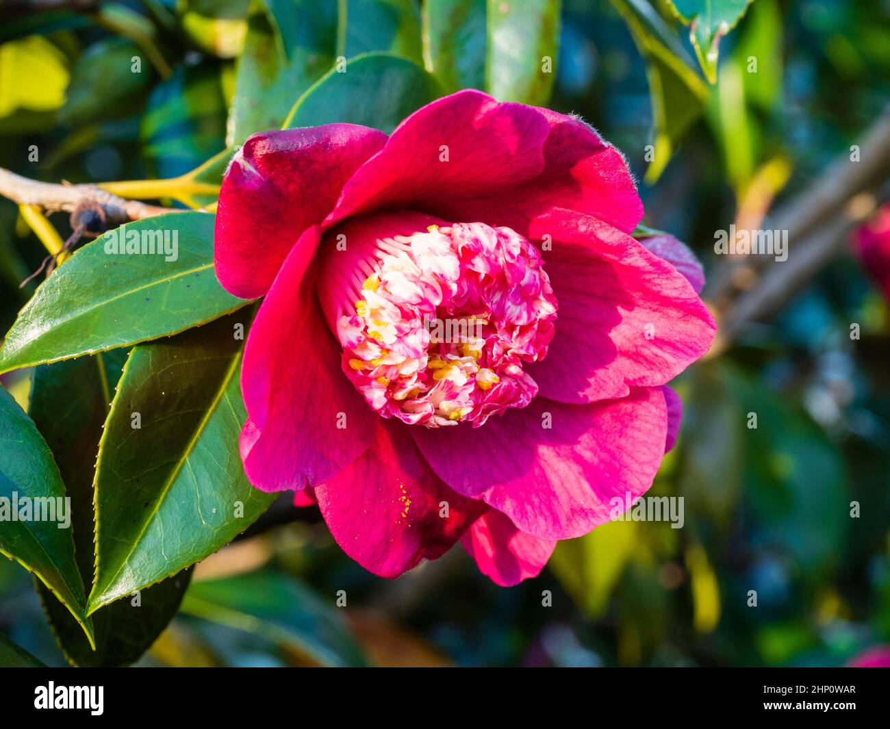
[[[317,499],[377,575],[457,539],[498,584],[537,575],[651,486],[679,425],[665,385],[714,336],[700,266],[633,239],[642,215],[590,126],[476,91],[388,137],[250,137],[215,239],[223,286],[265,296],[241,375],[250,482]]]

